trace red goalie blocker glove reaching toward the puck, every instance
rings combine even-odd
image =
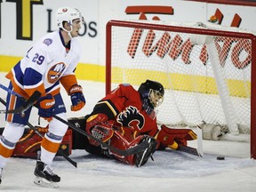
[[[156,140],[160,142],[160,148],[177,149],[179,146],[187,146],[187,140],[196,140],[196,133],[190,129],[173,129],[161,125],[161,130],[156,134]]]

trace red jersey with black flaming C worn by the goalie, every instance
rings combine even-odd
[[[129,128],[131,132],[155,136],[158,131],[155,111],[147,114],[140,93],[130,84],[119,84],[116,90],[100,100],[91,116],[95,114],[104,114],[109,122]]]

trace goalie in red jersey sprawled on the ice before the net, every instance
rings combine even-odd
[[[84,136],[74,132],[73,149],[85,148],[89,153],[114,157],[140,167],[156,149],[176,149],[179,145],[186,146],[187,140],[196,140],[196,133],[190,129],[171,129],[164,124],[157,126],[155,110],[163,101],[164,86],[156,81],[147,80],[140,84],[138,91],[131,84],[119,84],[98,101],[90,115],[85,116],[85,131],[114,148],[128,149],[145,140],[148,148],[135,155],[120,156],[111,149],[102,148],[97,141],[82,139]]]

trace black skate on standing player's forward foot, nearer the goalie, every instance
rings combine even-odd
[[[36,169],[34,174],[36,178],[34,183],[45,188],[59,188],[57,182],[60,182],[60,177],[52,172],[52,168],[44,164],[42,161],[36,161]]]

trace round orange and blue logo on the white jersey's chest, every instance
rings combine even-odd
[[[66,65],[63,62],[57,63],[49,69],[47,74],[47,80],[50,84],[55,84],[62,75]]]

